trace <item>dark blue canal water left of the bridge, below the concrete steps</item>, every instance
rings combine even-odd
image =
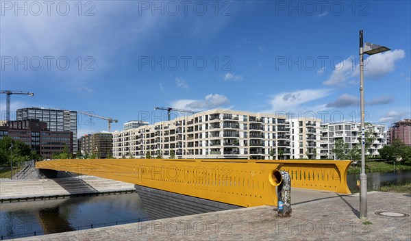
[[[0,204],[2,239],[147,220],[136,193]]]

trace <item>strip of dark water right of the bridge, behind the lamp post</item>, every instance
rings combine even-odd
[[[358,192],[357,180],[360,173],[347,175],[348,188],[351,192]],[[378,189],[388,184],[401,184],[411,182],[411,170],[396,170],[386,173],[366,173],[368,189]]]

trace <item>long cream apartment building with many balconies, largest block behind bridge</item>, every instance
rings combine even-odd
[[[113,134],[116,158],[290,159],[286,116],[207,110]]]

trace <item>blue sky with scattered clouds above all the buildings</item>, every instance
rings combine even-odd
[[[17,4],[17,5],[16,5]],[[360,121],[411,112],[410,1],[1,1],[1,90],[12,111],[53,107],[153,122],[155,106]],[[0,99],[5,118],[5,95]],[[12,113],[14,117],[14,113]],[[86,116],[79,134],[107,129]]]

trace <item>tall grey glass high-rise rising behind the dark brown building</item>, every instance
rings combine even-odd
[[[16,111],[17,121],[39,120],[47,123],[50,131],[71,131],[77,140],[77,112],[73,110],[28,107]],[[73,143],[73,153],[77,153],[77,141]]]

